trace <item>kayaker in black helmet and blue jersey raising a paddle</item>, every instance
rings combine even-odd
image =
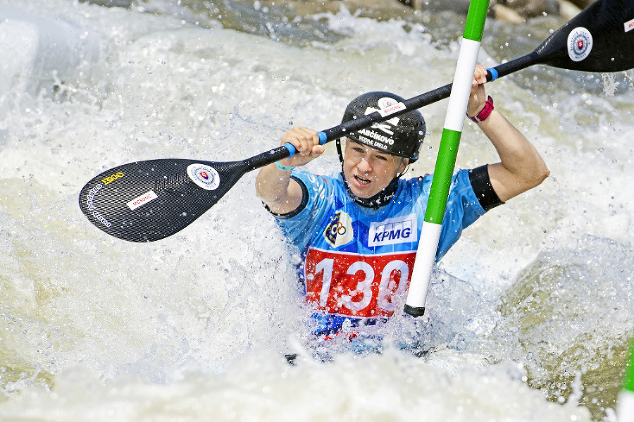
[[[476,66],[467,114],[500,161],[454,173],[436,261],[486,211],[549,175],[535,147],[487,97],[486,73]],[[388,92],[362,94],[342,121],[399,101],[404,99]],[[324,152],[317,132],[292,128],[282,144],[290,142],[297,154],[259,171],[257,194],[301,252],[312,332],[319,339],[352,340],[375,330],[394,314],[394,295],[409,285],[432,176],[402,176],[418,159],[425,130],[416,110],[350,132],[343,152],[337,141],[342,170],[323,176],[299,170]]]

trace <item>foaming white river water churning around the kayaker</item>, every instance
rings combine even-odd
[[[417,321],[429,352],[304,347],[297,253],[249,173],[166,240],[94,228],[77,194],[135,160],[244,159],[369,90],[450,80],[464,17],[303,17],[259,2],[105,8],[0,0],[0,418],[4,421],[601,421],[634,325],[632,71],[535,66],[487,86],[551,176],[466,230]],[[480,61],[563,25],[487,22]],[[433,169],[447,103],[425,107]],[[496,161],[466,124],[457,166]],[[332,149],[310,169],[337,171]],[[385,328],[399,342],[411,319]],[[284,354],[299,354],[287,364]]]

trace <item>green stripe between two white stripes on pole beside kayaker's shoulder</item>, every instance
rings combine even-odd
[[[443,148],[438,151],[436,166],[434,168],[434,179],[432,182],[427,211],[425,211],[425,221],[428,223],[442,224],[447,208],[447,197],[449,197],[449,187],[452,183],[454,166],[456,165],[456,153],[460,145],[462,132],[451,129],[442,130]]]

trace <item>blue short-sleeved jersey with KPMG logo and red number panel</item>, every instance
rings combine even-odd
[[[306,302],[315,313],[313,333],[337,334],[345,327],[374,325],[394,314],[392,297],[409,286],[432,177],[399,180],[390,204],[368,209],[355,204],[340,173],[313,175],[294,170],[306,187],[306,205],[278,216],[285,235],[304,259]],[[468,225],[485,213],[468,170],[454,174],[436,261]]]

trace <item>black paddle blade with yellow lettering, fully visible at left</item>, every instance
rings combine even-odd
[[[244,161],[128,163],[92,178],[80,192],[80,208],[108,235],[154,242],[199,218],[250,169]]]

